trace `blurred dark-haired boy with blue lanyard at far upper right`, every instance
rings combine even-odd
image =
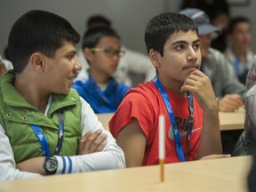
[[[243,84],[245,84],[254,57],[254,53],[250,49],[251,30],[252,24],[247,18],[236,17],[230,20],[228,27],[229,45],[225,51],[225,56],[236,71],[239,81]]]

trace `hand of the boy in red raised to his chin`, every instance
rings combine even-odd
[[[217,108],[211,80],[200,70],[193,71],[184,81],[180,92],[191,92],[203,109]]]

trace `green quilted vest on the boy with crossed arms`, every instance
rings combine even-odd
[[[8,136],[15,162],[43,156],[41,144],[31,128],[38,125],[49,144],[51,156],[58,144],[59,122],[57,110],[63,110],[64,138],[60,156],[75,156],[78,140],[81,138],[81,101],[78,93],[72,90],[68,95],[52,94],[52,104],[47,116],[34,108],[21,97],[13,87],[14,72],[6,73],[0,80],[0,123]]]

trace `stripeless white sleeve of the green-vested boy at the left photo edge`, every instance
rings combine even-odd
[[[32,172],[20,172],[16,169],[11,143],[0,124],[0,180],[18,180],[42,177]]]

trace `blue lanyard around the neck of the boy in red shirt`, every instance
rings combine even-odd
[[[164,90],[164,86],[163,84],[160,82],[158,76],[155,76],[153,79],[154,83],[156,84],[156,88],[158,89],[158,91],[161,93],[162,98],[164,100],[164,104],[165,107],[167,108],[170,120],[171,120],[171,124],[172,124],[172,132],[174,135],[174,141],[175,141],[175,148],[176,148],[176,153],[177,156],[180,159],[180,162],[184,162],[185,161],[185,156],[183,153],[183,148],[182,148],[182,144],[181,144],[181,140],[180,140],[180,132],[178,129],[178,126],[176,124],[175,121],[175,117],[172,111],[172,106],[170,103],[170,100],[168,98],[167,92],[165,92]],[[189,110],[189,119],[188,119],[188,145],[189,145],[189,152],[191,152],[192,147],[190,146],[190,139],[191,139],[191,132],[192,132],[192,128],[193,128],[193,124],[194,124],[194,105],[193,105],[193,97],[192,94],[190,92],[187,93],[188,96],[188,110]]]

